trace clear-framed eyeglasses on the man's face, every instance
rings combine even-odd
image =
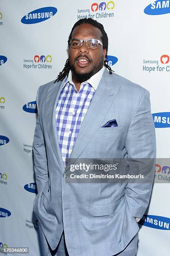
[[[86,42],[86,46],[90,49],[96,49],[99,44],[103,46],[100,40],[98,39],[69,39],[69,44],[71,44],[71,48],[80,48],[83,45],[83,42]]]

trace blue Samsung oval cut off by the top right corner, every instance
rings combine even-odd
[[[162,15],[170,13],[170,1],[157,0],[148,5],[145,8],[144,13],[148,15]]]

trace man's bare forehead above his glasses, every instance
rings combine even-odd
[[[101,39],[101,31],[99,28],[94,27],[91,24],[81,24],[74,28],[74,31],[72,32],[71,38],[79,38],[79,39]]]

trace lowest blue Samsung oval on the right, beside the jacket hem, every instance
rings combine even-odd
[[[156,216],[156,215],[143,215],[139,221],[140,225],[156,228],[162,230],[170,230],[170,218]]]

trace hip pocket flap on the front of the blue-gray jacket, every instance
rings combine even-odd
[[[111,204],[104,205],[93,205],[92,212],[93,216],[107,216],[119,212],[122,206],[124,205],[124,197],[122,197],[119,201],[113,202]]]

